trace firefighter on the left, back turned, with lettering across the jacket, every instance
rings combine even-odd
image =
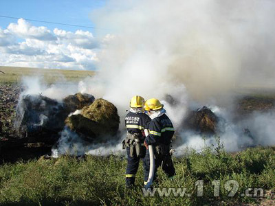
[[[122,145],[127,150],[126,187],[133,187],[140,158],[144,158],[146,153],[143,144],[144,134],[148,133],[148,123],[151,119],[144,113],[143,106],[144,98],[135,95],[130,102],[130,111],[125,117],[127,136]]]

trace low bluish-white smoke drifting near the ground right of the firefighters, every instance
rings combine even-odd
[[[219,137],[225,150],[229,152],[239,151],[247,147],[275,145],[274,111],[265,113],[254,112],[239,122],[234,122],[234,119],[230,119],[232,115],[225,108],[213,106],[212,111],[220,119],[217,128],[220,132],[217,136],[205,137],[192,131],[184,131],[179,135],[183,144],[175,146],[175,155],[180,156],[184,154],[186,148],[194,148],[197,151],[201,151],[206,146],[217,146],[217,137]],[[246,133],[245,130],[247,130]]]

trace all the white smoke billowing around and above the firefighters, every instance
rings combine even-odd
[[[96,77],[81,81],[78,89],[115,104],[120,128],[131,97],[142,95],[162,100],[176,128],[188,108],[217,105],[212,109],[225,119],[219,128],[227,150],[275,144],[274,113],[234,122],[228,109],[242,87],[275,89],[274,9],[268,0],[108,1],[92,18],[112,38],[98,54]],[[104,30],[100,35],[106,36]],[[243,135],[247,127],[256,140]],[[190,131],[180,137],[184,143],[178,149],[215,142]]]

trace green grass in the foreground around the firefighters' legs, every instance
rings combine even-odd
[[[167,179],[159,171],[154,187],[186,187],[191,196],[144,197],[142,164],[136,187],[126,190],[126,159],[119,156],[88,156],[78,160],[61,157],[50,160],[19,161],[0,168],[0,205],[236,205],[254,203],[257,199],[241,197],[250,187],[275,189],[274,148],[248,148],[236,154],[222,147],[204,148],[198,154],[189,150],[175,158],[177,175]],[[203,180],[203,196],[197,196],[195,182]],[[212,181],[221,183],[220,196],[213,196]],[[224,185],[228,180],[239,183],[234,197]]]

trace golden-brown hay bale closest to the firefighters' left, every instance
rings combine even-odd
[[[118,109],[111,102],[100,98],[90,106],[85,106],[81,114],[68,117],[66,124],[76,133],[95,139],[115,136],[118,132],[120,117]]]

